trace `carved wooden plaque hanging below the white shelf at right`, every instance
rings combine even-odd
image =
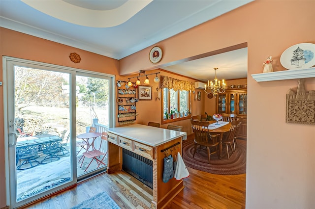
[[[315,90],[306,93],[303,78],[296,93],[290,89],[286,94],[285,122],[315,125]]]

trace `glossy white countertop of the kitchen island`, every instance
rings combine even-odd
[[[156,128],[141,124],[109,128],[108,132],[126,137],[128,139],[132,139],[134,141],[152,147],[157,147],[179,137],[183,137],[183,140],[187,139],[186,132]]]

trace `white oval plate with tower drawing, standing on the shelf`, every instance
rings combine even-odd
[[[315,65],[315,44],[301,43],[286,49],[280,62],[288,70],[307,69]]]

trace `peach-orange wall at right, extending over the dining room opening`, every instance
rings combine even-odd
[[[285,123],[285,95],[297,79],[256,82],[262,63],[273,57],[274,71],[285,70],[281,54],[298,43],[315,43],[314,0],[255,0],[212,21],[121,60],[121,74],[152,69],[194,55],[248,44],[247,188],[249,209],[315,208],[315,126]],[[135,62],[135,60],[137,60]],[[315,78],[305,80],[315,90]]]

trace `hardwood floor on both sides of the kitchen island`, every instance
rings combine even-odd
[[[245,209],[246,174],[215,175],[189,168],[185,188],[167,209]],[[69,209],[105,191],[122,209],[149,209],[152,189],[125,172],[102,174],[28,209]]]

